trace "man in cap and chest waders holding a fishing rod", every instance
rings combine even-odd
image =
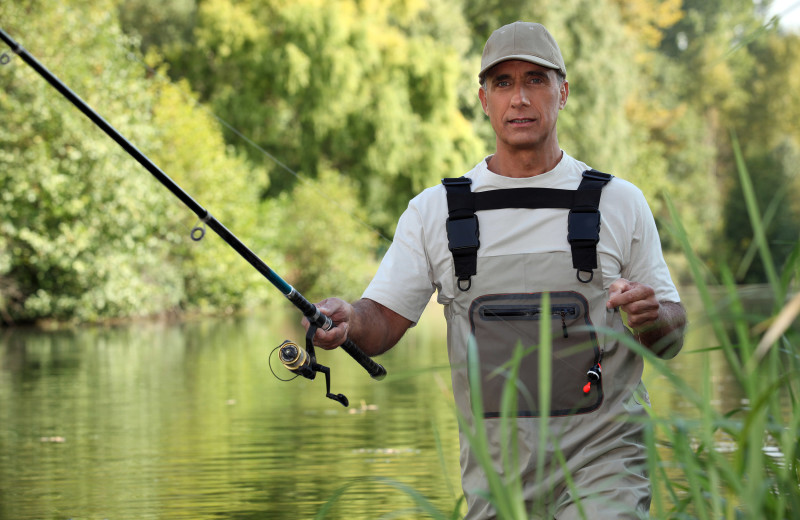
[[[479,80],[496,152],[463,178],[410,202],[363,298],[318,304],[336,326],[317,331],[315,344],[334,348],[350,338],[370,355],[385,352],[438,291],[453,392],[466,418],[460,440],[467,518],[496,515],[464,432],[475,404],[466,368],[473,340],[480,404],[500,473],[510,453],[499,426],[507,363],[518,344],[527,348],[515,381],[514,467],[531,513],[559,520],[584,513],[638,518],[650,503],[637,421],[647,394],[641,358],[619,341],[629,334],[619,311],[636,339],[661,356],[680,349],[686,321],[653,216],[636,187],[590,170],[559,147],[556,123],[569,83],[558,45],[543,26],[516,22],[495,31]],[[540,366],[544,320],[552,353]],[[541,395],[540,370],[553,379]]]

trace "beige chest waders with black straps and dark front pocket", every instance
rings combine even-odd
[[[649,506],[649,486],[643,477],[642,427],[633,415],[644,410],[634,396],[640,386],[642,362],[627,348],[595,327],[627,333],[618,312],[607,311],[602,269],[596,252],[599,241],[603,187],[612,176],[589,170],[577,190],[545,188],[500,189],[473,193],[467,178],[444,179],[449,217],[446,228],[453,254],[458,290],[445,306],[448,354],[453,392],[467,427],[472,426],[467,380],[467,344],[474,337],[480,359],[482,404],[492,461],[501,476],[501,461],[510,446],[501,437],[498,418],[509,361],[518,345],[525,349],[518,378],[516,410],[516,471],[522,476],[528,508],[542,518],[571,518],[573,497],[565,481],[568,471],[578,486],[586,511],[597,518],[624,518],[623,509]],[[561,208],[571,254],[567,252],[478,256],[479,218],[476,213],[506,208]],[[535,240],[536,230],[520,237]],[[483,230],[490,236],[492,230]],[[524,249],[524,248],[521,248]],[[550,305],[544,307],[544,294]],[[550,322],[552,352],[548,367],[540,366],[539,331]],[[602,367],[602,368],[601,368]],[[551,373],[549,392],[540,395],[540,370]],[[549,394],[549,401],[543,399]],[[646,400],[642,387],[639,399]],[[542,410],[548,410],[543,416]],[[546,428],[541,422],[546,421]],[[541,438],[546,432],[546,438]],[[467,495],[467,519],[493,518],[481,496],[486,476],[461,432],[462,485]],[[544,446],[544,453],[540,449]],[[634,449],[630,449],[631,446]],[[557,462],[563,455],[566,465]],[[611,455],[609,455],[611,454]],[[543,460],[544,463],[537,461]],[[599,461],[602,461],[600,464]],[[587,471],[594,463],[599,469]],[[598,477],[618,479],[606,486],[632,490],[620,496],[626,505],[592,502],[592,483]],[[584,485],[581,483],[584,482]],[[617,499],[614,499],[616,501]],[[605,511],[611,516],[592,514]],[[557,514],[558,513],[558,514]]]

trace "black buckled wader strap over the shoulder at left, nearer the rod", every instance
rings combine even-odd
[[[442,183],[447,190],[447,247],[453,254],[458,288],[468,291],[472,286],[471,277],[478,270],[480,247],[475,197],[470,189],[472,179],[442,179]]]

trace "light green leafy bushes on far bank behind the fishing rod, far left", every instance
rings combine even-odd
[[[235,201],[237,212],[221,214],[252,232],[250,168],[190,108],[185,87],[158,84],[128,59],[137,51],[113,7],[15,2],[3,7],[3,28],[198,200]],[[3,321],[242,305],[251,270],[211,240],[188,245],[188,210],[169,192],[20,60],[0,78]]]

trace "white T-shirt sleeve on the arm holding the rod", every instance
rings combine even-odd
[[[362,295],[417,323],[435,290],[422,218],[413,207],[400,217],[392,245]]]

